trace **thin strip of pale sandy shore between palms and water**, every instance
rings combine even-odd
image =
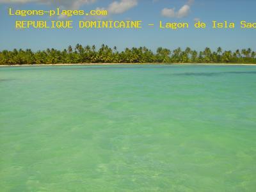
[[[44,66],[93,66],[93,65],[218,65],[218,66],[256,66],[256,64],[237,64],[237,63],[59,63],[59,64],[33,64],[33,65],[0,65],[0,67],[44,67]]]

